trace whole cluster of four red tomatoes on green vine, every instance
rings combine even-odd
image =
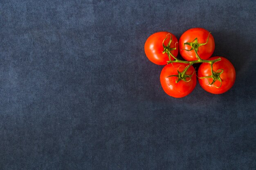
[[[202,28],[189,29],[178,41],[169,32],[157,32],[146,40],[144,50],[148,59],[162,69],[160,82],[163,90],[172,97],[189,95],[196,86],[209,93],[221,94],[228,91],[235,82],[234,66],[224,57],[211,57],[215,49],[211,33]],[[177,59],[180,55],[184,60]],[[197,75],[195,63],[202,63]]]

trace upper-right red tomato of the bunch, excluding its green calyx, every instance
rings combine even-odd
[[[209,39],[207,41],[208,35],[209,35]],[[197,40],[195,40],[196,38]],[[179,40],[180,55],[186,61],[198,60],[194,50],[186,51],[186,50],[190,50],[191,46],[189,46],[188,44],[184,45],[184,43],[186,42],[194,42],[194,45],[196,47],[198,46],[198,44],[195,43],[196,41],[198,41],[198,44],[199,44],[197,53],[201,59],[207,60],[213,54],[213,51],[215,49],[215,43],[214,43],[213,36],[209,34],[209,31],[202,28],[189,29],[181,35]],[[206,43],[206,44],[202,45],[203,43]]]

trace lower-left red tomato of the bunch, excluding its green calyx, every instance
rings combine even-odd
[[[190,66],[189,69],[186,71],[186,75],[190,76],[185,77],[185,80],[188,82],[180,80],[176,83],[176,81],[178,80],[178,77],[176,76],[179,75],[178,71],[184,71],[184,69],[188,65],[189,64],[184,63],[173,63],[173,65],[168,64],[164,66],[160,74],[160,82],[165,93],[172,97],[180,98],[189,95],[189,93],[193,91],[196,85],[196,74],[195,68],[193,66]],[[170,75],[176,76],[168,77]]]

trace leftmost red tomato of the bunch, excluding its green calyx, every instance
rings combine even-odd
[[[167,36],[167,37],[166,37]],[[164,40],[166,38],[166,40]],[[169,61],[168,55],[167,53],[164,53],[164,46],[163,46],[163,41],[164,41],[164,45],[168,46],[168,42],[171,40],[171,44],[169,46],[170,49],[175,48],[175,46],[177,46],[178,44],[176,44],[178,42],[177,38],[175,37],[175,35],[173,35],[172,33],[169,32],[157,32],[154,33],[152,35],[150,35],[150,37],[148,37],[148,39],[145,42],[144,45],[144,50],[146,53],[146,56],[148,57],[148,59],[158,65],[165,65],[167,64],[167,61]],[[175,57],[177,57],[178,55],[178,46],[176,49],[173,49],[170,51]],[[171,60],[174,60],[173,57],[171,57]]]

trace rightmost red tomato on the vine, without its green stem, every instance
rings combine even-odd
[[[219,76],[221,82],[216,80],[213,84],[212,78],[200,78],[211,76],[211,65],[209,63],[202,63],[198,68],[198,81],[200,86],[209,93],[221,94],[228,91],[235,83],[236,71],[234,66],[224,57],[211,57],[209,60],[215,60],[221,58],[220,61],[213,64],[213,71],[217,73],[217,78]],[[223,70],[223,73],[221,73]],[[209,80],[209,81],[208,81]],[[210,82],[210,83],[209,83]]]

